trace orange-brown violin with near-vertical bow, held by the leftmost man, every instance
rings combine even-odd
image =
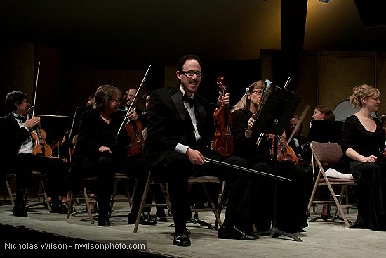
[[[39,69],[40,69],[40,62],[37,67],[34,105],[32,106],[32,117],[34,117],[35,115],[36,92],[37,92],[37,82],[39,79]],[[41,156],[41,157],[51,157],[52,149],[46,143],[46,132],[43,129],[41,129],[40,123],[36,124],[35,129],[31,132],[31,137],[34,142],[34,155]]]

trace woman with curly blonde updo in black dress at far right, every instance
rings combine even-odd
[[[380,105],[380,92],[370,85],[354,86],[350,104],[360,110],[342,125],[342,152],[357,183],[358,216],[351,228],[386,230],[386,166],[382,124],[371,113]]]

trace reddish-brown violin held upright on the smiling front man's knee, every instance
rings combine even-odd
[[[226,87],[223,84],[224,77],[220,76],[217,79],[217,84],[222,96],[225,96]],[[215,153],[220,155],[231,155],[233,153],[233,136],[230,133],[230,126],[232,124],[232,113],[227,107],[222,103],[218,108],[215,109],[214,113],[214,125],[215,125],[215,134],[213,135],[211,148]]]

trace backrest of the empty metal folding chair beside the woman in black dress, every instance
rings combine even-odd
[[[338,143],[310,143],[314,157],[321,163],[336,163],[342,158],[342,148]]]

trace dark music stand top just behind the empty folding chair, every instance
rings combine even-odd
[[[308,141],[340,144],[342,125],[343,121],[312,120]]]

